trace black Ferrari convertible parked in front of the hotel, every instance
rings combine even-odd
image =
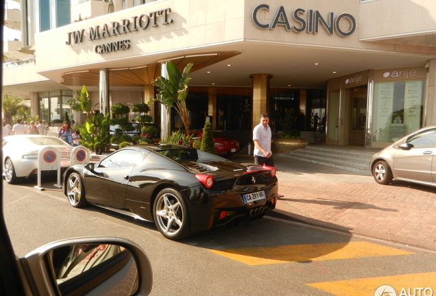
[[[276,207],[274,167],[239,164],[180,145],[137,145],[64,173],[71,206],[154,221],[171,240]]]

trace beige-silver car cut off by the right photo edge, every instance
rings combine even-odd
[[[436,126],[417,130],[372,156],[371,173],[378,184],[393,179],[436,186]]]

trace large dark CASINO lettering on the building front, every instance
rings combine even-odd
[[[261,10],[269,11],[269,5],[261,4],[253,10],[252,21],[254,25],[256,25],[256,27],[258,27],[259,29],[272,30],[276,29],[278,25],[282,25],[286,27],[287,31],[295,33],[301,33],[306,31],[307,33],[317,34],[319,30],[319,25],[321,25],[322,27],[324,27],[329,35],[332,35],[333,32],[336,32],[336,34],[342,37],[348,37],[356,30],[356,20],[351,14],[348,13],[339,14],[335,18],[335,14],[333,14],[333,12],[329,12],[326,21],[326,19],[322,17],[321,13],[318,10],[306,11],[302,8],[297,8],[291,14],[291,20],[297,22],[298,25],[294,25],[291,27],[288,14],[283,6],[279,6],[272,23],[261,23],[261,21],[258,20],[257,15],[258,12]],[[348,30],[348,32],[344,32],[339,26],[341,21],[348,21],[348,23],[350,23],[350,29]]]

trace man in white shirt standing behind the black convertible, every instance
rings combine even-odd
[[[261,115],[261,123],[254,127],[254,163],[274,167],[271,152],[271,127],[269,127],[268,123],[269,115],[263,113]]]

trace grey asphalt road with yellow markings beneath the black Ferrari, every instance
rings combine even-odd
[[[378,295],[376,288],[384,284],[398,295],[402,288],[412,289],[403,295],[436,295],[432,254],[268,217],[173,242],[153,223],[95,206],[76,209],[53,184],[43,184],[44,191],[34,185],[3,181],[5,219],[17,256],[63,238],[128,238],[152,262],[152,295]]]

